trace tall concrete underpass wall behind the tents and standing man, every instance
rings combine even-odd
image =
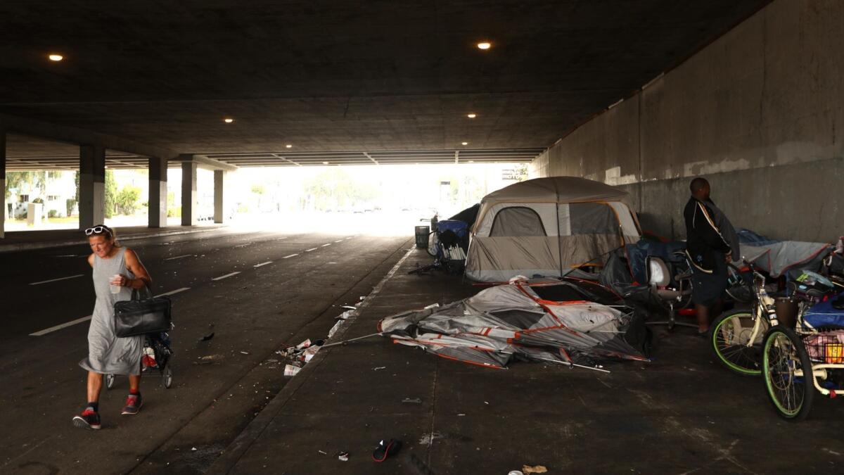
[[[844,2],[776,0],[678,68],[560,139],[532,177],[634,195],[643,227],[684,238],[691,177],[736,227],[844,234]]]

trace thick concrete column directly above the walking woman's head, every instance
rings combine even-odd
[[[106,149],[79,146],[79,229],[106,219]]]

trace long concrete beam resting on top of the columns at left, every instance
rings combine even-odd
[[[178,154],[173,150],[163,149],[151,145],[144,145],[134,140],[122,139],[114,135],[99,134],[84,128],[68,127],[55,123],[0,114],[0,128],[5,126],[8,132],[53,139],[71,144],[97,144],[104,149],[120,150],[141,156],[160,156],[174,158]]]

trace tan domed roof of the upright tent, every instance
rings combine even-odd
[[[482,203],[624,201],[630,194],[608,184],[581,177],[533,178],[484,196]]]

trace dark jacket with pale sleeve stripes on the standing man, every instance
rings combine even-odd
[[[686,254],[692,265],[701,272],[711,274],[716,269],[715,259],[732,254],[739,258],[738,236],[727,216],[711,199],[701,201],[691,197],[683,210],[686,223]]]

